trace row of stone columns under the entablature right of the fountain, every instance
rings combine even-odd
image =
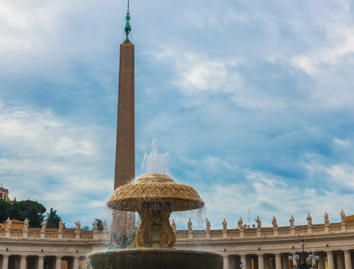
[[[301,253],[300,253],[301,254]],[[314,253],[313,253],[314,254]],[[312,263],[319,269],[354,269],[354,250],[319,251],[319,261],[314,258]],[[253,253],[233,254],[223,253],[224,269],[290,269],[289,253]],[[295,256],[295,252],[292,253]],[[308,253],[305,253],[308,256]],[[295,263],[294,263],[295,264]]]

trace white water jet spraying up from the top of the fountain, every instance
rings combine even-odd
[[[142,173],[169,173],[169,153],[159,154],[157,139],[152,140],[152,150],[142,159]]]

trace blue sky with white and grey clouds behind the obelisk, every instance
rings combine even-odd
[[[0,2],[0,182],[67,227],[110,215],[126,12]],[[136,175],[157,138],[205,201],[195,229],[354,214],[353,1],[132,0],[130,14]]]

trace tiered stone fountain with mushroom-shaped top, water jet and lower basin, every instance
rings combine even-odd
[[[152,143],[152,156],[144,156],[147,171],[166,163]],[[165,173],[146,173],[133,183],[115,189],[107,203],[113,210],[138,212],[141,219],[135,236],[137,249],[103,251],[89,254],[93,269],[217,269],[222,256],[209,251],[173,248],[176,235],[169,222],[171,212],[195,210],[204,206],[197,191],[178,184]]]

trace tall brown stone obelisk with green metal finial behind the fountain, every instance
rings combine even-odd
[[[114,189],[135,178],[135,87],[134,87],[134,45],[129,40],[129,1],[125,16],[127,38],[120,45],[120,66],[118,85],[117,144],[115,151]],[[135,214],[114,212],[113,227],[117,234],[128,234],[135,229]]]

